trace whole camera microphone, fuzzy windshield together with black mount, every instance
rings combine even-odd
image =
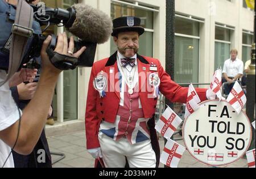
[[[34,17],[41,25],[62,23],[69,32],[82,41],[103,44],[109,40],[113,23],[111,18],[96,8],[83,3],[73,5],[67,10],[62,8],[46,7],[43,13],[42,6],[34,6]]]

